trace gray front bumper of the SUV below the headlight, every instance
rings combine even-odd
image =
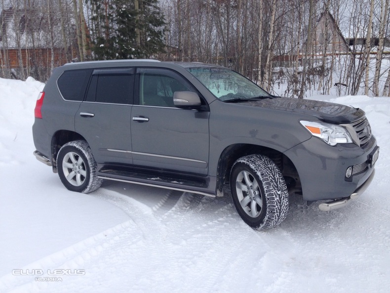
[[[312,137],[284,154],[298,171],[304,200],[338,200],[343,206],[350,201],[351,195],[361,194],[363,186],[368,186],[371,182],[369,178],[373,177],[375,164],[372,162],[376,149],[374,136],[364,148],[355,144],[330,146]],[[357,167],[357,171],[347,178],[349,167]],[[337,203],[332,206],[337,206]]]

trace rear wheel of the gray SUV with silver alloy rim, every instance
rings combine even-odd
[[[58,175],[71,191],[89,193],[98,189],[103,180],[97,177],[96,167],[91,149],[83,140],[68,142],[58,152]]]

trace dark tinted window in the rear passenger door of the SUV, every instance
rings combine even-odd
[[[87,102],[130,104],[134,69],[95,70],[86,96]]]

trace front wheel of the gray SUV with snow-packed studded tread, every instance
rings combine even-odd
[[[288,191],[283,175],[271,159],[249,155],[235,161],[230,188],[241,218],[255,229],[280,224],[288,211]]]

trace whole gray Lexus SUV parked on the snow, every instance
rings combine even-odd
[[[103,180],[231,193],[256,229],[288,197],[345,206],[374,177],[379,147],[360,109],[275,97],[202,63],[117,60],[56,68],[35,108],[37,159],[72,191]]]

